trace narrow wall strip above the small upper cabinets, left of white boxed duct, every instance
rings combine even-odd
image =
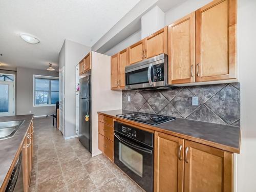
[[[113,48],[105,52],[104,55],[112,56],[118,53],[119,51],[122,51],[123,49],[129,47],[130,45],[135,44],[135,42],[139,40],[141,40],[141,30],[135,32],[134,34],[127,37],[123,41],[119,42],[119,44],[117,44],[116,46],[114,46]]]

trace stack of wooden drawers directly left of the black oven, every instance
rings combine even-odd
[[[98,116],[98,146],[99,150],[114,161],[114,119],[104,115]]]

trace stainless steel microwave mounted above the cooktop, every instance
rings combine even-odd
[[[168,58],[166,54],[125,67],[125,89],[173,89],[168,85]]]

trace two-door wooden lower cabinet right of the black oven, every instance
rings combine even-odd
[[[231,192],[233,154],[155,133],[154,191]]]

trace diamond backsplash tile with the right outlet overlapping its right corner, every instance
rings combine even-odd
[[[186,118],[190,113],[195,111],[202,104],[199,99],[198,106],[192,105],[193,96],[194,94],[184,88],[173,98],[172,101],[170,101],[170,103],[184,118]]]

